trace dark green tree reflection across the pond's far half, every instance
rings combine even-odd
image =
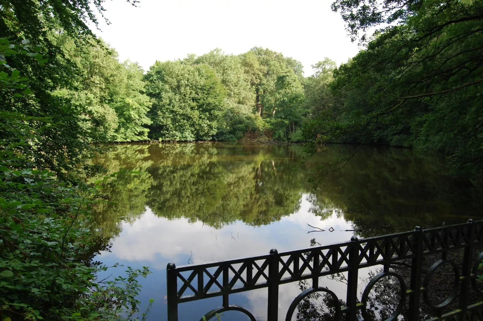
[[[438,157],[408,149],[363,148],[314,190],[305,173],[351,148],[329,146],[299,167],[300,146],[110,146],[95,160],[107,174],[120,169],[139,174],[121,175],[104,188],[113,203],[98,208],[98,224],[115,235],[120,221],[139,217],[149,206],[158,216],[215,228],[237,220],[267,225],[298,211],[304,193],[310,212],[343,217],[358,237],[460,222],[462,212],[465,219],[481,216],[483,198],[469,182],[452,179]],[[355,210],[361,205],[368,211]]]

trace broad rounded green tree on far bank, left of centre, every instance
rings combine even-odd
[[[225,112],[226,89],[207,65],[157,61],[146,74],[152,97],[151,137],[170,141],[212,139]]]

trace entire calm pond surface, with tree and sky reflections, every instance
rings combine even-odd
[[[272,248],[308,247],[312,239],[327,244],[483,217],[477,190],[452,179],[439,155],[364,147],[316,189],[307,181],[311,168],[354,148],[328,146],[300,165],[300,146],[111,146],[96,162],[109,173],[139,173],[121,174],[104,189],[115,204],[99,206],[97,227],[112,237],[113,247],[97,259],[149,266],[153,274],[140,280],[140,300],[144,306],[155,299],[148,320],[166,320],[170,262],[179,266],[268,254]],[[316,228],[309,225],[325,231],[310,232]],[[109,274],[120,274],[122,268],[117,269]],[[361,284],[369,273],[360,273]],[[345,284],[320,282],[345,297]],[[280,320],[299,293],[298,284],[281,286]],[[257,320],[266,320],[266,302],[266,289],[230,296],[231,304],[247,308]],[[219,305],[221,297],[182,304],[180,321],[199,320]],[[247,319],[230,312],[222,320]]]

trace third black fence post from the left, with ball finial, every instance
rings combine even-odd
[[[353,236],[349,249],[349,267],[347,272],[347,300],[349,310],[346,313],[346,321],[355,321],[357,315],[357,281],[359,272],[359,240]]]

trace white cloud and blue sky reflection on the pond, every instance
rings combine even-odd
[[[99,258],[102,261],[120,262],[124,266],[148,265],[154,273],[148,276],[143,283],[143,296],[164,291],[164,278],[166,265],[175,263],[177,266],[188,264],[188,258],[195,264],[207,263],[217,260],[268,254],[271,248],[279,252],[305,248],[310,245],[310,240],[315,238],[322,244],[347,241],[353,236],[350,222],[346,222],[335,210],[326,219],[315,216],[310,212],[313,204],[308,200],[310,194],[303,194],[300,208],[296,213],[284,216],[280,221],[272,222],[269,225],[253,227],[241,221],[234,224],[215,229],[202,222],[189,222],[185,218],[168,220],[158,217],[149,208],[139,219],[133,222],[121,223],[121,232],[113,240],[111,252],[103,252]],[[325,229],[323,232],[313,232],[309,227]],[[328,228],[333,227],[334,232]],[[193,253],[191,255],[191,253]],[[190,261],[190,262],[191,262]],[[159,274],[161,278],[159,279]],[[156,280],[155,280],[156,279]],[[162,281],[163,284],[156,284]],[[327,281],[332,288],[336,286],[333,281]],[[335,290],[335,289],[334,289]],[[345,295],[345,285],[341,284],[339,292]],[[342,291],[343,290],[343,291]],[[266,289],[245,292],[240,295],[248,299],[249,309],[257,320],[266,320]],[[279,294],[279,308],[282,316],[292,302],[300,293],[297,284],[288,284],[281,287]],[[149,297],[148,297],[149,299]],[[243,300],[244,301],[244,300]],[[183,305],[180,306],[183,308]],[[206,307],[208,311],[212,307]],[[213,307],[214,308],[214,307]],[[156,302],[151,318],[165,319],[166,305]],[[207,312],[206,311],[206,312]],[[193,318],[199,318],[202,311],[189,313]],[[233,318],[234,316],[230,316]]]

